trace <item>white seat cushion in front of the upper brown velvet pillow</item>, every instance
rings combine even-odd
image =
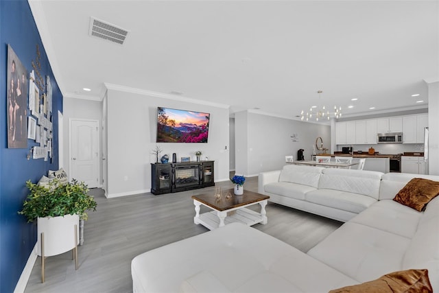
[[[422,215],[393,200],[379,200],[352,218],[351,222],[412,238]]]

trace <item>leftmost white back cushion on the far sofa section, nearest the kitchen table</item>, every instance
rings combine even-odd
[[[281,176],[279,176],[279,182],[297,183],[317,188],[323,170],[323,167],[285,165]]]

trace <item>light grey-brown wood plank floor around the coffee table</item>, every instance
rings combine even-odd
[[[232,183],[216,183],[232,188]],[[245,189],[257,191],[257,177],[247,178]],[[84,245],[79,246],[79,268],[71,253],[46,259],[45,283],[41,283],[38,257],[25,292],[132,292],[131,260],[180,239],[208,231],[193,224],[193,194],[213,193],[213,187],[176,194],[139,194],[105,198],[92,189],[97,211],[88,213]],[[252,206],[259,209],[259,205]],[[207,211],[202,207],[202,211]],[[342,225],[341,222],[290,209],[278,204],[266,207],[268,224],[254,228],[307,252]]]

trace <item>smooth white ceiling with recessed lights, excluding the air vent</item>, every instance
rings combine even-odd
[[[427,108],[424,80],[439,80],[439,1],[29,4],[66,97],[99,100],[112,84],[229,105],[231,115],[297,119],[337,104],[349,117]],[[91,17],[130,31],[126,42],[89,36]]]

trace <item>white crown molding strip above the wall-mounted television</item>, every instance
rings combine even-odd
[[[224,109],[230,108],[230,105],[227,105],[227,104],[208,102],[208,101],[203,101],[202,99],[194,99],[192,97],[183,97],[181,95],[173,95],[170,93],[160,93],[157,91],[137,89],[137,88],[133,88],[131,86],[123,86],[120,84],[110,84],[108,82],[104,82],[104,85],[106,86],[107,89],[113,90],[113,91],[123,91],[126,93],[137,93],[139,95],[149,95],[151,97],[161,97],[163,99],[173,99],[175,101],[187,102],[187,103],[193,103],[193,104],[202,104],[202,105],[213,106],[213,107],[217,107],[217,108],[224,108]]]

